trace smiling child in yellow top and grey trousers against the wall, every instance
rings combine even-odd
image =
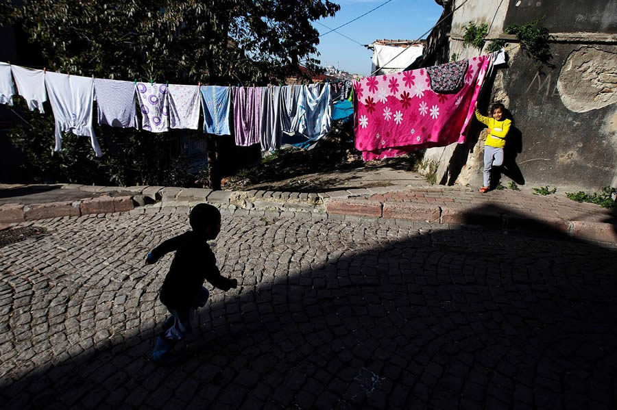
[[[502,103],[495,103],[491,107],[491,116],[485,117],[478,111],[476,101],[476,118],[489,127],[488,136],[484,143],[484,185],[480,192],[484,193],[491,186],[491,169],[503,164],[503,147],[505,138],[510,130],[511,120],[504,117],[505,107]]]

